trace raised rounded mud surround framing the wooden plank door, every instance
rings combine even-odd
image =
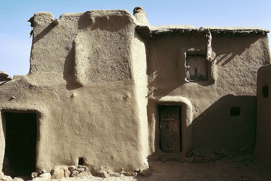
[[[182,123],[182,152],[164,153],[160,149],[160,129],[159,129],[159,111],[158,105],[179,105],[181,106],[181,123]],[[149,99],[148,108],[149,123],[149,140],[150,140],[150,156],[149,158],[161,160],[182,160],[189,155],[192,150],[192,129],[191,123],[193,119],[193,109],[191,102],[181,96],[161,96]],[[181,140],[180,140],[181,141]]]

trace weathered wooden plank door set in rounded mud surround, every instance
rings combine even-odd
[[[160,149],[165,153],[182,151],[181,106],[158,105]]]

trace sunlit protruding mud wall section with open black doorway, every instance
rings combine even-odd
[[[62,14],[58,25],[51,18],[40,12],[32,19],[29,74],[0,82],[2,113],[40,115],[37,171],[77,166],[79,158],[93,175],[146,169],[146,51],[135,17],[95,10]]]

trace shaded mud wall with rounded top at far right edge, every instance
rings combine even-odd
[[[257,75],[257,131],[254,154],[261,163],[271,167],[271,65],[260,67]],[[268,86],[267,95],[263,87]]]

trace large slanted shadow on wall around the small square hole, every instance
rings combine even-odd
[[[192,121],[193,151],[254,149],[256,121],[256,96],[225,95]]]

